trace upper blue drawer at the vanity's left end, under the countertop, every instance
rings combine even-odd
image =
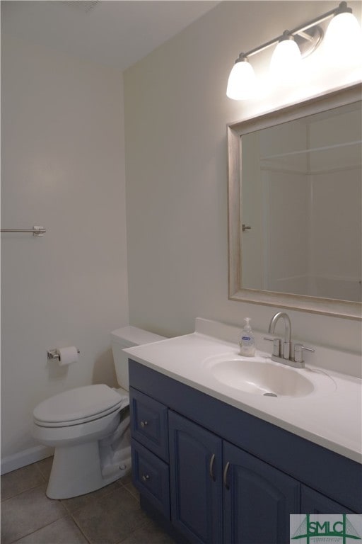
[[[129,389],[132,438],[168,463],[168,409],[138,390]]]

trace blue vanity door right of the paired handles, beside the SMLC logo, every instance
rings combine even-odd
[[[227,442],[223,460],[224,543],[288,543],[289,514],[300,511],[300,483]]]

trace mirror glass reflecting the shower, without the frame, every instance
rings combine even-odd
[[[361,302],[361,155],[361,102],[243,136],[243,288]]]

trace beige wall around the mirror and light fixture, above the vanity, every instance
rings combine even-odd
[[[361,4],[352,4],[360,16]],[[311,81],[289,91],[235,102],[226,97],[226,82],[241,50],[334,7],[329,1],[223,2],[125,72],[132,324],[173,335],[192,331],[197,316],[240,327],[250,316],[267,331],[274,308],[228,301],[226,124],[324,93],[351,76],[327,76],[316,52],[308,61]],[[264,77],[267,53],[255,62]],[[358,322],[290,314],[293,336],[307,343],[361,347]]]

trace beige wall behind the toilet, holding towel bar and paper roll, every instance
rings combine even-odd
[[[110,332],[128,324],[122,74],[2,35],[3,460],[35,446],[42,399],[115,384]],[[78,363],[47,363],[76,345]],[[30,451],[31,453],[31,451]],[[31,460],[31,455],[30,455]]]

